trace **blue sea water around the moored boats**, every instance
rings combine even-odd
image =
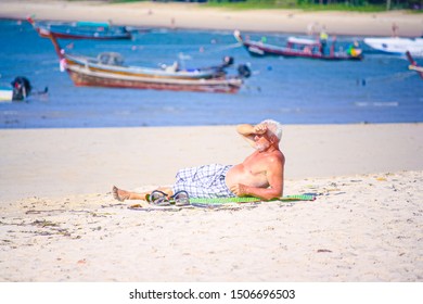
[[[290,35],[243,33],[283,46]],[[178,61],[185,67],[219,64],[234,58],[229,74],[247,64],[252,77],[234,94],[75,87],[60,71],[49,39],[27,22],[0,20],[0,86],[27,77],[33,91],[47,96],[0,103],[0,128],[74,128],[283,124],[413,123],[423,121],[423,79],[408,69],[405,56],[371,51],[364,37],[336,39],[346,49],[355,40],[362,61],[253,58],[232,31],[153,28],[132,40],[64,40],[68,53],[97,56],[118,52],[129,65],[157,67]],[[419,59],[418,62],[422,63]]]

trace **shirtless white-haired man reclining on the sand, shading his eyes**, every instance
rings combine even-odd
[[[282,127],[266,119],[258,125],[239,125],[236,130],[256,150],[234,166],[207,165],[178,172],[171,188],[159,188],[169,197],[184,190],[190,198],[256,197],[271,200],[283,195],[285,156],[279,149]],[[146,194],[113,187],[119,201],[146,200]]]

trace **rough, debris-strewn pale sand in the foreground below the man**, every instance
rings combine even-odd
[[[422,185],[421,172],[309,179],[296,187],[315,202],[215,211],[34,198],[1,208],[0,280],[423,281]]]

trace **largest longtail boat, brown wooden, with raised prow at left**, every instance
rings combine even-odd
[[[97,58],[67,54],[54,35],[50,36],[60,58],[61,69],[66,71],[75,86],[132,88],[174,91],[236,92],[249,69],[240,65],[239,75],[228,76],[225,68],[233,63],[226,58],[217,66],[204,68],[166,68],[124,65],[124,59],[115,52],[100,53]]]

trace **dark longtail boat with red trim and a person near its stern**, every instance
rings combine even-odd
[[[324,51],[324,46],[320,41],[289,37],[286,47],[269,45],[262,41],[252,41],[244,39],[239,30],[233,33],[235,39],[241,42],[245,49],[254,56],[281,55],[286,58],[307,58],[329,61],[338,60],[361,60],[362,52],[359,48],[350,48],[347,52],[335,51],[334,43],[331,45],[330,51]]]

